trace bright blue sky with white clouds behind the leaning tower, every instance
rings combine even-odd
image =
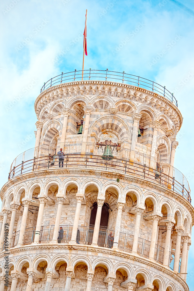
[[[1,0],[1,187],[7,181],[12,160],[34,147],[34,101],[43,83],[62,71],[81,69],[86,9],[85,69],[124,70],[174,92],[184,117],[177,136],[175,167],[188,178],[192,192],[191,0]],[[120,44],[124,44],[121,49]],[[193,290],[193,246],[190,249],[188,284]]]

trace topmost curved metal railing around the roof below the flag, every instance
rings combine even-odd
[[[42,86],[40,93],[42,93],[44,90],[58,85],[62,83],[69,83],[74,81],[81,81],[82,80],[82,71],[73,71],[68,73],[61,73],[58,76],[55,76],[48,80],[44,85]],[[106,70],[84,70],[83,71],[83,81],[87,80],[94,80],[94,81],[113,81],[113,82],[119,82],[119,83],[125,83],[136,87],[141,87],[144,89],[147,89],[152,92],[156,92],[159,95],[164,96],[171,102],[173,102],[177,107],[177,100],[175,99],[173,93],[170,93],[166,89],[166,86],[161,86],[158,83],[139,77],[131,74],[126,74],[125,71],[123,72],[114,72]]]

